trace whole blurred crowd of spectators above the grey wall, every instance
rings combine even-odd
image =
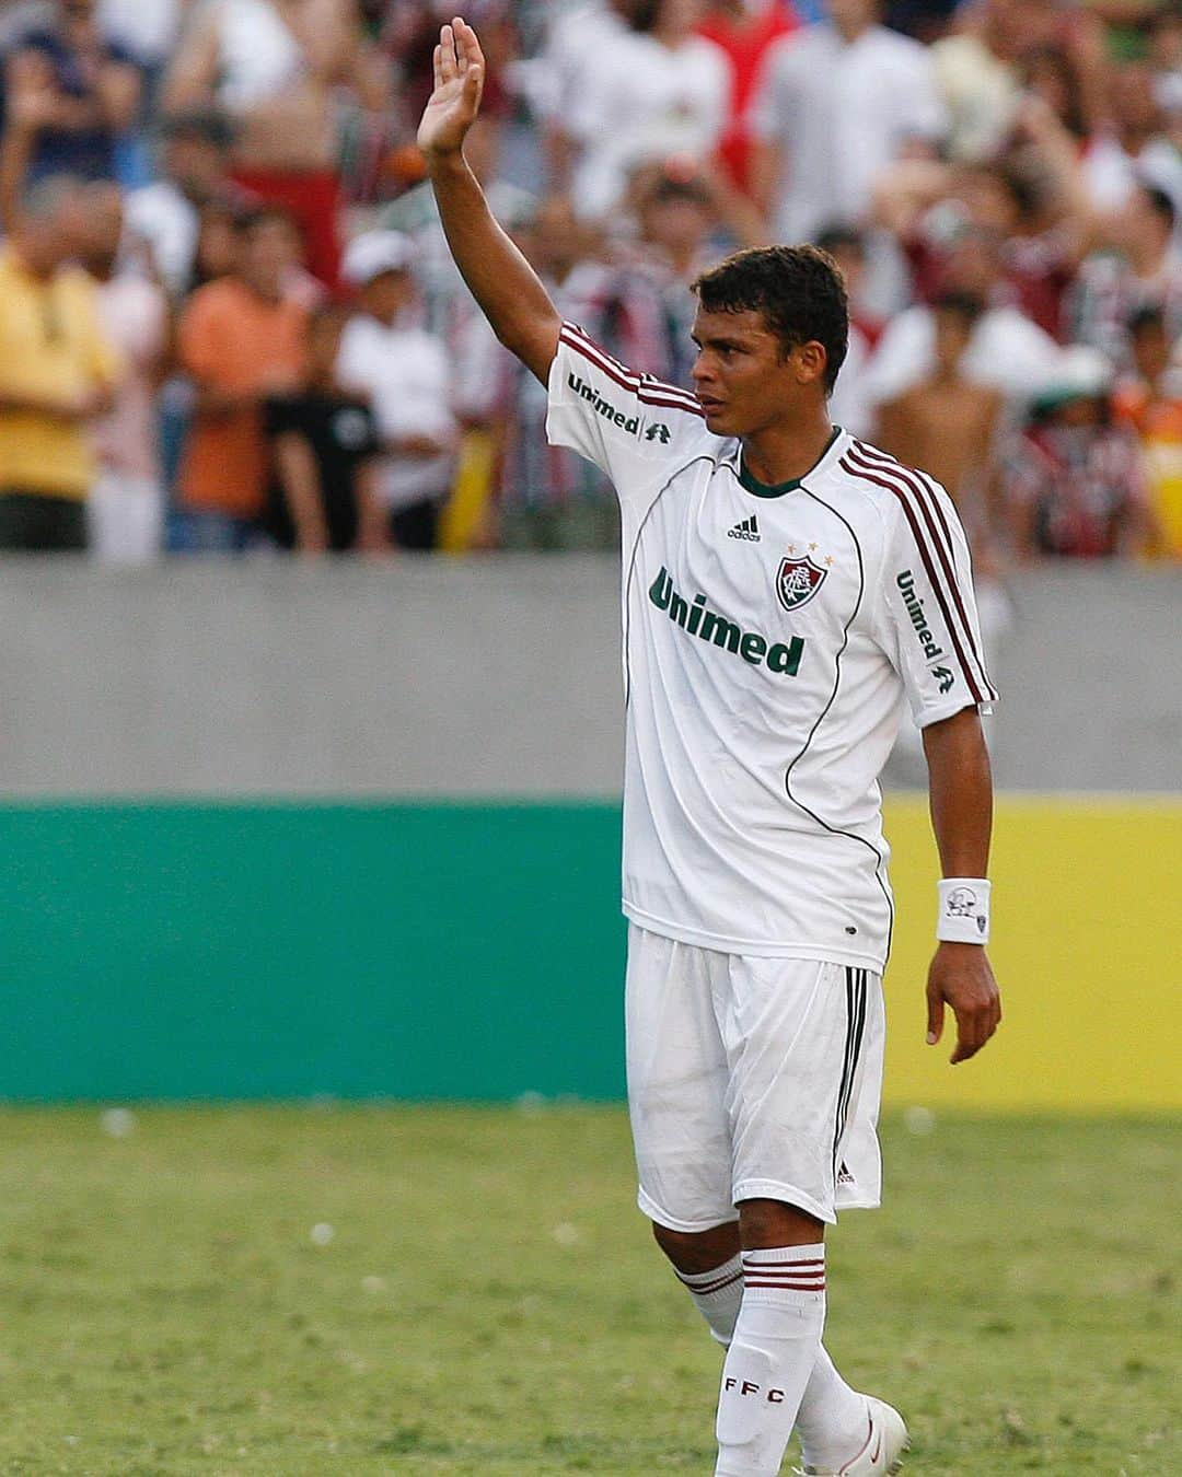
[[[436,0],[0,0],[0,548],[598,549],[451,263]],[[981,573],[1182,557],[1179,0],[474,0],[468,158],[561,312],[687,384],[697,272],[814,241],[833,419]]]

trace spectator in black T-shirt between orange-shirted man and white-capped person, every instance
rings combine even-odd
[[[389,548],[374,415],[337,381],[343,328],[340,307],[315,309],[307,323],[303,387],[266,403],[275,458],[267,532],[281,548],[301,554]]]

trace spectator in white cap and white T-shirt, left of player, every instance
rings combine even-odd
[[[411,326],[412,245],[396,230],[350,242],[344,281],[359,312],[341,337],[340,383],[374,411],[381,440],[380,495],[400,548],[433,549],[451,490],[460,427],[452,415],[452,365],[442,340]]]

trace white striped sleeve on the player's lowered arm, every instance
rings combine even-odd
[[[988,712],[997,688],[984,662],[969,548],[952,498],[906,468],[885,482],[895,502],[886,517],[878,640],[920,728],[962,707]]]

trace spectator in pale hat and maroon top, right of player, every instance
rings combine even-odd
[[[1111,366],[1093,349],[1065,349],[1056,384],[1003,461],[1002,489],[1014,554],[1113,558],[1147,542],[1141,449],[1113,422]]]

